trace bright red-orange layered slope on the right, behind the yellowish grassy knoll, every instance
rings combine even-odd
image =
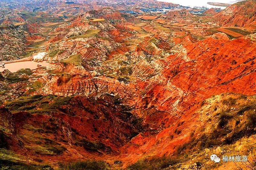
[[[150,85],[144,86],[149,88],[147,93],[134,104],[135,112],[144,118],[145,127],[162,131],[157,135],[144,133],[143,137],[134,137],[131,143],[137,147],[127,144],[126,153],[120,157],[133,159],[145,152],[159,156],[172,154],[176,146],[189,139],[189,129],[195,129],[196,125],[189,122],[196,120],[194,112],[199,102],[225,92],[255,94],[256,46],[249,37],[232,41],[224,37],[225,34],[218,33],[184,45],[186,57],[184,54],[170,55],[164,59],[161,75],[149,80]],[[180,127],[182,133],[175,140],[170,140],[166,136],[175,134],[177,127],[168,128],[169,125],[181,120],[187,124]]]

